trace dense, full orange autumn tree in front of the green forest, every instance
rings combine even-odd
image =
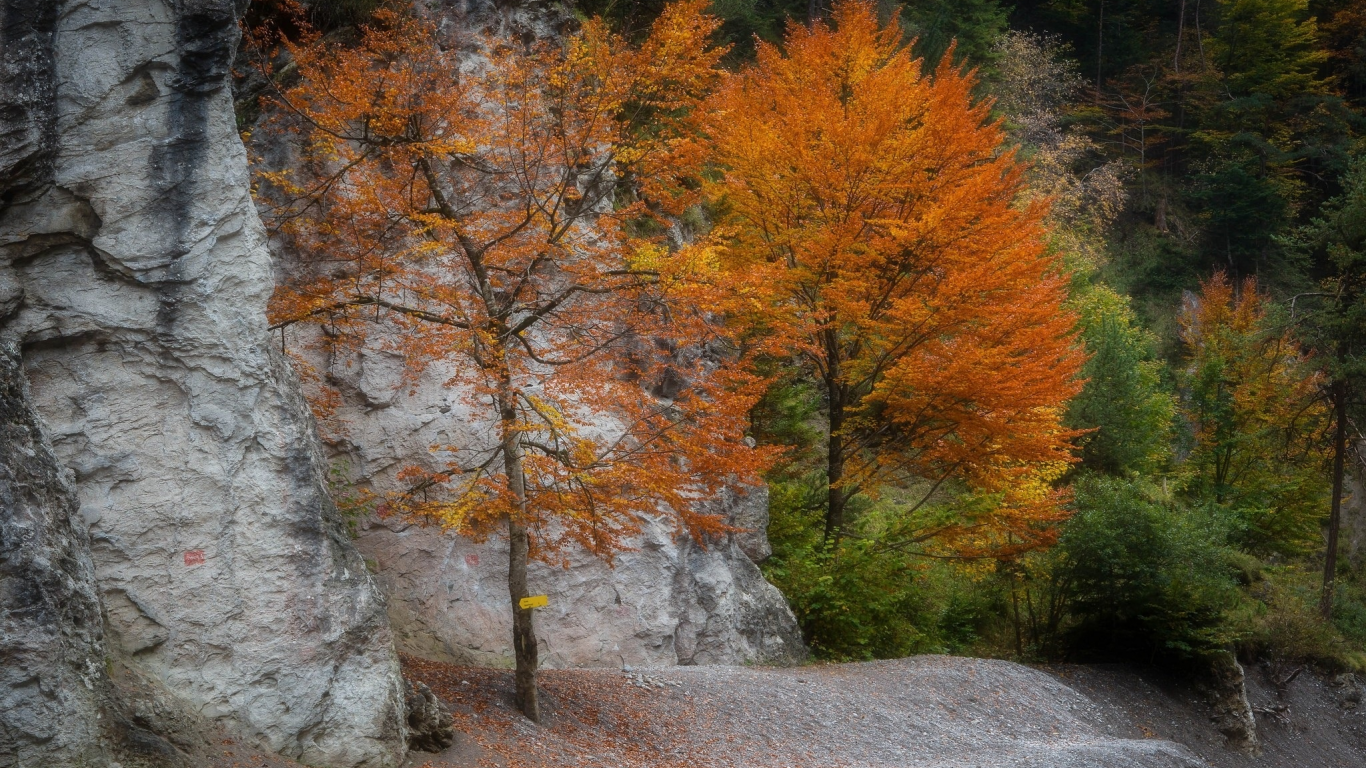
[[[1044,545],[1071,458],[1061,415],[1082,355],[1042,205],[951,55],[922,72],[870,3],[790,25],[709,101],[710,186],[750,327],[820,381],[825,538],[859,493],[921,488],[891,547]],[[936,493],[975,499],[912,523]]]

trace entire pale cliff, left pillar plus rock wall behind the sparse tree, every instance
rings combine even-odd
[[[266,332],[228,87],[242,5],[0,3],[0,765],[183,764],[175,734],[217,727],[309,764],[403,756],[380,581]],[[448,20],[564,23],[479,14]],[[333,452],[376,484],[470,428],[440,377],[410,398],[380,358],[335,373],[359,379]],[[723,507],[751,533],[650,529],[616,567],[534,574],[548,663],[799,657],[753,562],[762,491]],[[407,648],[501,663],[505,548],[392,523],[359,545]]]

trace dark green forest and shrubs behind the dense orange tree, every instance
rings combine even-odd
[[[311,15],[344,29],[377,5]],[[575,7],[627,40],[663,10]],[[791,19],[831,14],[821,0],[710,11],[732,70]],[[750,433],[785,450],[766,476],[761,567],[816,656],[1190,664],[1233,650],[1366,670],[1366,562],[1329,526],[1341,478],[1366,471],[1366,1],[877,12],[918,57],[973,72],[973,98],[1026,161],[1016,209],[1050,200],[1048,250],[1086,351],[1060,426],[1079,461],[1046,478],[1065,519],[1037,545],[918,536],[1001,503],[929,474],[850,493],[832,536],[831,388],[773,358],[750,413]],[[725,215],[708,200],[682,213],[698,230]]]

